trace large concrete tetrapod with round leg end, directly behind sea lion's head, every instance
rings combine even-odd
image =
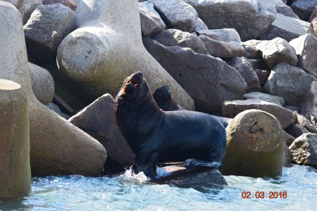
[[[167,84],[180,106],[192,98],[144,49],[138,1],[83,0],[76,10],[77,30],[58,47],[58,65],[70,87],[91,100],[116,96],[123,79],[142,71],[151,91]]]

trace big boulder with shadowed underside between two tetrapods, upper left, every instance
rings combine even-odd
[[[76,17],[62,4],[40,5],[24,25],[28,57],[38,62],[56,56],[61,41],[75,30]]]

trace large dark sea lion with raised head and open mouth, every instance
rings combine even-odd
[[[120,132],[136,155],[135,173],[153,178],[158,160],[189,159],[187,170],[220,167],[227,139],[223,124],[205,113],[161,110],[142,72],[125,79],[114,111]]]

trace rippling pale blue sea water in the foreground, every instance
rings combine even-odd
[[[41,177],[25,198],[0,210],[317,210],[317,170],[284,167],[276,179],[228,176],[228,187],[149,184],[144,177]],[[287,198],[242,199],[242,191],[285,191]]]

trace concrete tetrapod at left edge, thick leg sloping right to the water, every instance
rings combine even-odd
[[[99,175],[104,146],[39,103],[32,92],[20,12],[0,1],[0,23],[0,78],[20,84],[30,105],[32,175]]]

